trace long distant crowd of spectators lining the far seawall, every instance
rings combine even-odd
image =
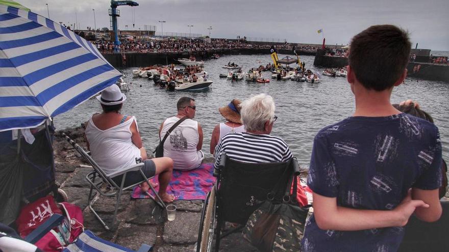
[[[114,45],[112,42],[96,41],[94,42],[98,50],[102,53],[113,53]],[[238,49],[238,48],[266,48],[269,44],[255,44],[245,40],[227,40],[214,39],[211,42],[202,40],[151,40],[145,42],[130,41],[122,43],[119,46],[119,52],[194,52],[213,49]],[[276,45],[277,49],[292,49],[293,44],[284,43]],[[296,46],[297,50],[315,52],[319,47],[314,46]]]

